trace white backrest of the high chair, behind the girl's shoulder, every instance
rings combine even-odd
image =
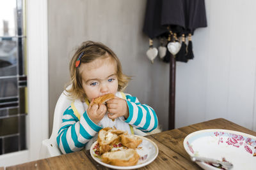
[[[68,85],[67,90],[71,88],[71,85]],[[54,110],[54,117],[53,117],[53,125],[52,125],[52,134],[50,139],[56,139],[58,135],[58,131],[61,127],[62,123],[62,115],[64,111],[70,106],[72,100],[68,97],[68,92],[64,90],[59,97],[55,110]]]

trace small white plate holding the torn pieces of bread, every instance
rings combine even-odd
[[[99,164],[102,164],[103,166],[113,168],[113,169],[136,169],[139,167],[147,166],[153,160],[156,159],[156,157],[158,155],[158,147],[157,147],[156,143],[154,143],[150,139],[147,139],[145,137],[138,136],[138,135],[134,135],[134,136],[137,136],[142,139],[141,144],[136,149],[137,153],[140,155],[140,157],[147,155],[147,159],[138,160],[138,163],[135,166],[112,166],[112,165],[102,162],[101,159],[94,156],[95,152],[93,151],[93,148],[98,143],[97,141],[95,141],[95,143],[93,143],[93,145],[91,146],[90,154],[91,154],[92,158]]]

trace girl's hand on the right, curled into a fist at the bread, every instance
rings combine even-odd
[[[108,117],[111,119],[122,116],[124,116],[125,118],[129,117],[129,109],[124,99],[115,97],[114,99],[107,101],[107,108],[109,112]]]

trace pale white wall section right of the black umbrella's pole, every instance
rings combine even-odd
[[[256,1],[206,0],[195,59],[177,62],[176,126],[223,117],[256,131]]]

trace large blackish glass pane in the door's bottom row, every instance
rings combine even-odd
[[[4,153],[10,153],[19,150],[19,136],[5,137],[3,140]]]

